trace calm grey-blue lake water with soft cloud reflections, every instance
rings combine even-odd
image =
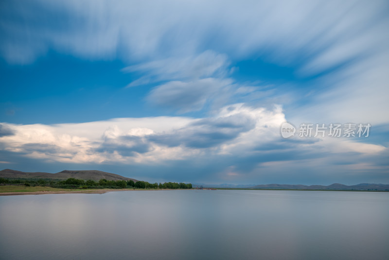
[[[0,259],[389,259],[389,193],[0,197]]]

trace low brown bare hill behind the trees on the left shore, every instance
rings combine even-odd
[[[25,178],[25,179],[57,179],[66,180],[69,178],[93,180],[98,181],[100,179],[106,179],[108,181],[120,181],[120,180],[138,180],[120,176],[118,174],[99,171],[99,170],[63,170],[57,173],[48,172],[23,172],[18,170],[4,169],[0,171],[0,177],[2,178]]]

